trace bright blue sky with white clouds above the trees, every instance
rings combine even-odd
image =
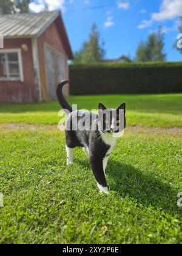
[[[73,51],[81,48],[95,22],[105,42],[106,58],[125,54],[133,59],[140,41],[162,26],[167,60],[182,60],[182,54],[173,49],[182,0],[36,0],[30,9],[40,12],[44,2],[49,10],[62,10]]]

